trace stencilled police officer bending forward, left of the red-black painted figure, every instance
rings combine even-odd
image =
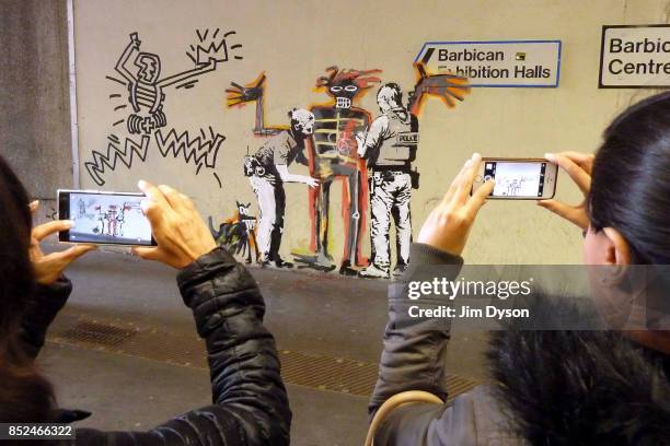
[[[293,266],[279,256],[286,210],[284,183],[319,186],[316,178],[291,174],[288,169],[293,162],[308,165],[304,141],[314,131],[314,115],[305,109],[293,109],[288,116],[291,127],[269,138],[255,154],[244,160],[244,175],[250,177],[261,211],[257,232],[261,265],[275,268]]]

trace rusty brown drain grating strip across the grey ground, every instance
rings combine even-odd
[[[127,354],[163,363],[207,369],[204,341],[193,337],[134,324],[90,319],[85,315],[61,315],[49,330],[49,341],[84,349]],[[347,357],[279,350],[285,383],[320,390],[369,397],[377,382],[377,364]],[[447,376],[449,399],[478,383]]]

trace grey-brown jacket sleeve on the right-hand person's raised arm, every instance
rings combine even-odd
[[[424,244],[412,245],[411,258],[412,262],[402,280],[389,289],[389,321],[383,338],[379,377],[368,407],[370,420],[385,400],[403,391],[424,390],[447,399],[444,360],[450,339],[449,325],[436,318],[409,317],[411,306],[429,308],[443,305],[444,302],[431,296],[411,300],[407,291],[411,282],[431,281],[436,274],[448,280],[454,279],[463,260]],[[431,421],[439,420],[443,412],[444,408],[440,404],[415,404],[402,412],[396,409],[380,426],[376,438],[379,438],[380,444],[391,445],[396,444],[391,442],[395,436],[391,432],[402,431],[405,435],[425,436],[425,430]],[[402,416],[398,416],[401,413]]]

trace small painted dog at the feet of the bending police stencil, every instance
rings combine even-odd
[[[257,220],[251,214],[251,203],[236,202],[234,215],[213,227],[213,219],[209,216],[209,231],[219,245],[224,246],[230,253],[244,257],[246,263],[252,260],[261,261],[258,245],[256,244]],[[252,259],[252,254],[255,259]]]

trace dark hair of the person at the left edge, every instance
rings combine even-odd
[[[1,156],[0,212],[0,422],[49,421],[54,390],[25,354],[19,338],[21,317],[35,284],[28,256],[28,198]]]

